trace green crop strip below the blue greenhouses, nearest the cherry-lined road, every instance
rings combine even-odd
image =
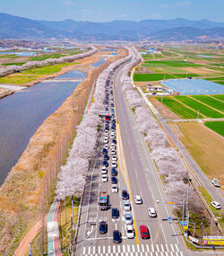
[[[156,99],[161,102],[161,97],[156,97]],[[196,119],[197,113],[194,110],[190,110],[185,107],[180,102],[175,101],[172,97],[163,97],[162,103],[172,110],[175,114],[183,119]],[[202,119],[202,115],[199,115],[199,118]]]

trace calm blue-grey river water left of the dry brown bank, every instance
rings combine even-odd
[[[77,70],[56,79],[83,79]],[[42,82],[0,100],[0,185],[17,163],[30,137],[81,82]]]

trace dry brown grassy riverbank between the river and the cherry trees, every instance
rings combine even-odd
[[[0,255],[13,255],[22,237],[46,214],[56,173],[65,161],[91,86],[104,68],[125,54],[123,50],[117,56],[107,57],[102,66],[86,71],[86,79],[30,138],[29,145],[0,188]],[[86,70],[92,62],[99,61],[100,54],[94,55],[82,59],[77,69]]]

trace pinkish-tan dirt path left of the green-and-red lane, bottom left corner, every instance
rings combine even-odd
[[[44,225],[45,226],[46,226],[46,223],[47,223],[46,221],[47,221],[47,216],[45,216],[45,218],[44,218]],[[28,252],[28,250],[30,248],[30,243],[37,236],[37,234],[39,234],[39,231],[42,227],[42,224],[43,224],[43,220],[40,219],[39,222],[30,229],[28,234],[26,234],[24,236],[24,238],[22,239],[22,242],[20,243],[20,245],[15,250],[14,256],[23,256],[23,255],[25,255],[26,252]]]

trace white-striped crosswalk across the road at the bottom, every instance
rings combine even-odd
[[[117,244],[84,246],[82,255],[89,256],[183,256],[177,244]]]

